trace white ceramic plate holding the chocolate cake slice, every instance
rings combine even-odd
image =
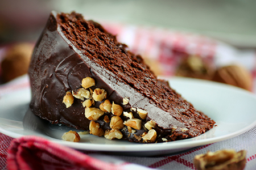
[[[248,91],[226,84],[189,78],[171,78],[170,84],[195,108],[213,118],[217,126],[199,137],[167,143],[109,141],[104,137],[90,134],[81,135],[79,143],[66,142],[61,141],[61,135],[72,128],[51,125],[30,113],[26,114],[23,121],[30,102],[30,89],[27,89],[5,95],[0,99],[0,131],[14,138],[37,135],[79,150],[152,156],[223,141],[242,134],[256,125],[256,96]]]

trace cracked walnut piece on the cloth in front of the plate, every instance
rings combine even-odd
[[[246,151],[220,150],[196,155],[194,164],[198,170],[242,170],[246,164]]]

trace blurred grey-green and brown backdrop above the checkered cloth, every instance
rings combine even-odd
[[[256,48],[255,6],[253,0],[1,0],[0,43],[34,41],[51,10],[75,10],[97,21],[154,25]]]

